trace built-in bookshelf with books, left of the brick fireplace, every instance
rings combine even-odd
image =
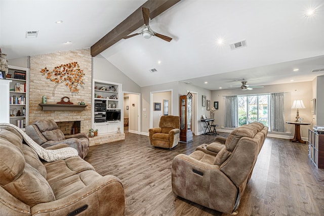
[[[10,123],[24,128],[29,116],[29,68],[8,66],[11,75],[9,91]]]

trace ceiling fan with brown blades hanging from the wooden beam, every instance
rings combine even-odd
[[[127,39],[127,38],[130,38],[130,37],[134,37],[134,36],[136,36],[138,34],[142,34],[142,36],[144,38],[146,38],[146,39],[150,38],[151,36],[157,36],[157,37],[159,37],[161,39],[164,39],[164,40],[170,42],[172,40],[171,37],[156,33],[148,25],[149,24],[149,18],[150,18],[150,10],[148,8],[142,8],[142,12],[143,12],[143,19],[144,19],[144,26],[143,26],[142,30],[140,32],[138,32],[138,33],[131,34],[131,35],[128,35],[128,36],[123,37],[123,38]]]

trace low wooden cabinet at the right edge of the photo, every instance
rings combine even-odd
[[[308,155],[318,168],[324,169],[324,132],[308,130]]]

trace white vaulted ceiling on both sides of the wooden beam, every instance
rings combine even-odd
[[[9,59],[89,48],[144,2],[2,0],[1,48]],[[324,74],[311,72],[324,68],[323,1],[182,0],[150,27],[173,40],[138,35],[101,53],[140,87],[184,81],[217,90],[239,87],[240,78],[266,85]],[[25,38],[32,30],[38,37]],[[230,49],[244,39],[247,47]]]

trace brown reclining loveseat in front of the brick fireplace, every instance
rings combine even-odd
[[[39,120],[26,126],[26,134],[43,148],[65,143],[75,148],[81,158],[85,158],[89,152],[88,135],[79,133],[64,136],[53,119]]]

